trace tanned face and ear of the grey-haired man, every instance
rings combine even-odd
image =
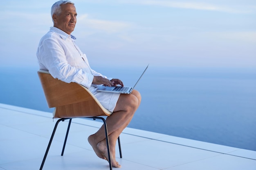
[[[71,34],[76,26],[76,7],[73,4],[62,4],[61,14],[53,15],[54,27]]]

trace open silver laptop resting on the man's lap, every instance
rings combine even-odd
[[[149,65],[149,64],[148,64]],[[138,81],[135,83],[135,85],[133,87],[122,87],[120,85],[117,86],[104,86],[102,85],[101,87],[99,87],[99,89],[97,89],[98,92],[110,92],[110,93],[121,93],[121,94],[131,94],[132,90],[134,89],[134,87],[137,85],[137,83],[139,82],[139,80],[141,79],[141,77],[143,76],[143,74],[146,72],[146,70],[148,69],[148,66],[146,67],[146,69],[144,70],[144,72],[141,74],[141,76],[139,77]]]

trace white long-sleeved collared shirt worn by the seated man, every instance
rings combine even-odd
[[[73,35],[51,27],[38,45],[36,55],[39,68],[49,71],[61,81],[79,83],[91,92],[96,92],[98,86],[92,84],[93,77],[103,75],[90,68],[86,55],[78,48],[75,40]]]

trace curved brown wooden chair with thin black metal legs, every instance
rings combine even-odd
[[[72,118],[91,118],[94,120],[99,119],[103,121],[106,133],[106,144],[108,148],[109,167],[110,170],[112,170],[106,120],[102,117],[98,117],[110,116],[111,112],[105,109],[97,100],[97,98],[95,98],[94,95],[82,85],[79,85],[77,83],[65,83],[61,80],[58,80],[57,78],[53,78],[52,75],[49,74],[49,72],[44,70],[39,70],[38,76],[41,81],[43,91],[45,93],[48,107],[55,107],[53,113],[54,118],[60,118],[54,126],[54,130],[47,146],[45,156],[40,166],[40,170],[43,169],[43,165],[45,163],[45,159],[51,146],[52,139],[54,137],[58,123],[69,119],[67,133],[61,153],[61,156],[63,156]],[[119,137],[118,144],[120,157],[122,158]]]

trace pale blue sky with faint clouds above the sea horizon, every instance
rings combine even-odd
[[[0,67],[38,65],[54,2],[1,2]],[[78,13],[72,35],[91,66],[256,68],[255,0],[72,2]]]

